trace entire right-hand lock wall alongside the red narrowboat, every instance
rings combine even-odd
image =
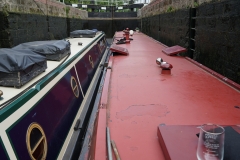
[[[240,84],[239,0],[155,0],[138,13],[142,32]]]

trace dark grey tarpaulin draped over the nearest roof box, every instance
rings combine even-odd
[[[46,61],[46,57],[31,50],[0,49],[0,72],[12,73],[25,70],[27,67]]]

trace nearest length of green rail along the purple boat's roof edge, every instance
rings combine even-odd
[[[3,109],[0,110],[0,122],[4,121],[7,117],[9,117],[13,112],[19,109],[23,104],[25,104],[30,98],[38,93],[36,89],[30,89],[17,100],[7,105]]]

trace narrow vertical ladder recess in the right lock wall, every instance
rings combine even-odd
[[[188,54],[190,58],[193,58],[195,52],[195,22],[196,22],[196,8],[190,8],[189,10],[189,46]]]

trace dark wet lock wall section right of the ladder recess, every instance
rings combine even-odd
[[[240,84],[240,1],[196,8],[194,59]]]

